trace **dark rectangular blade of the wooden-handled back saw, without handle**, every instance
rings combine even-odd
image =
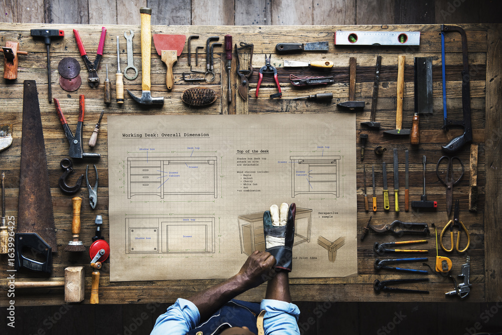
[[[415,57],[415,113],[432,114],[432,57]]]

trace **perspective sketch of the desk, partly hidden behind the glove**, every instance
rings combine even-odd
[[[239,215],[240,253],[247,256],[255,250],[265,251],[265,236],[263,233],[263,211]],[[294,246],[310,242],[312,209],[296,208],[295,242]]]

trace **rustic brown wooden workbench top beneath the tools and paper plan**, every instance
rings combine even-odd
[[[51,68],[52,68],[52,95],[58,98],[67,118],[70,129],[74,130],[78,115],[78,96],[85,95],[85,120],[83,128],[84,143],[87,143],[94,125],[96,124],[101,110],[105,110],[96,147],[93,152],[100,153],[101,159],[96,164],[99,174],[98,203],[92,210],[88,202],[88,191],[85,185],[78,195],[83,198],[81,221],[82,230],[80,240],[86,247],[91,244],[94,236],[94,218],[97,214],[103,216],[103,232],[106,240],[108,236],[108,155],[107,155],[107,117],[110,115],[179,115],[179,114],[268,114],[268,113],[340,113],[336,107],[337,102],[348,99],[348,64],[349,57],[357,58],[356,100],[365,100],[364,111],[357,113],[354,141],[357,143],[357,194],[358,234],[365,226],[370,215],[373,216],[372,224],[392,222],[395,219],[408,222],[435,223],[442,229],[448,222],[446,214],[445,188],[436,177],[435,164],[443,155],[440,149],[442,144],[449,142],[453,137],[461,134],[458,129],[448,132],[441,130],[442,126],[442,84],[441,84],[441,38],[438,25],[413,25],[413,26],[249,26],[249,27],[221,27],[221,26],[152,26],[152,33],[200,35],[197,40],[192,40],[192,53],[195,46],[205,46],[207,37],[219,36],[219,42],[223,42],[225,34],[233,36],[233,43],[254,43],[253,66],[255,74],[250,79],[249,94],[247,101],[243,101],[236,94],[237,76],[235,75],[235,57],[232,60],[232,102],[226,103],[226,72],[224,69],[224,52],[217,48],[215,56],[215,80],[201,85],[214,89],[220,97],[207,108],[190,109],[181,101],[181,93],[197,84],[183,81],[182,73],[189,72],[187,63],[187,47],[178,57],[178,63],[174,66],[175,85],[172,91],[167,91],[165,85],[166,67],[157,55],[152,43],[152,96],[164,96],[165,103],[162,107],[146,108],[137,104],[126,92],[126,101],[118,105],[115,99],[115,76],[116,72],[116,36],[120,36],[120,60],[121,69],[126,67],[127,51],[126,40],[123,38],[125,31],[132,29],[135,32],[134,52],[135,65],[140,71],[135,80],[124,78],[124,86],[133,92],[141,91],[141,47],[139,26],[107,26],[107,35],[104,45],[104,54],[101,60],[98,75],[100,86],[90,88],[87,84],[85,66],[78,53],[72,29],[80,33],[87,54],[94,60],[97,49],[101,26],[95,25],[35,25],[35,24],[0,24],[0,36],[2,44],[6,41],[19,41],[20,50],[28,51],[27,56],[19,56],[18,79],[7,82],[5,79],[0,83],[0,123],[14,124],[14,142],[10,148],[0,154],[0,165],[6,172],[6,209],[7,215],[18,216],[18,193],[19,193],[19,169],[21,153],[21,126],[22,126],[22,99],[23,81],[36,80],[39,92],[40,109],[44,128],[47,164],[49,168],[49,180],[54,208],[54,216],[57,229],[57,244],[59,252],[53,254],[53,270],[49,280],[60,280],[64,277],[64,268],[70,265],[83,265],[86,274],[85,303],[89,302],[91,268],[88,266],[87,253],[78,255],[63,251],[64,245],[71,239],[71,198],[63,194],[58,187],[58,178],[62,174],[59,166],[60,161],[67,157],[68,143],[63,129],[56,114],[54,103],[47,100],[47,70],[46,48],[41,39],[33,39],[30,29],[50,27],[65,31],[63,39],[53,39],[51,45]],[[458,152],[458,157],[463,161],[466,173],[453,191],[454,199],[460,200],[460,219],[470,232],[471,245],[465,254],[453,253],[446,255],[440,250],[440,255],[448,256],[453,262],[452,274],[460,273],[460,267],[465,263],[465,256],[470,257],[470,282],[472,284],[470,294],[466,301],[494,301],[502,295],[502,282],[500,279],[502,251],[500,241],[500,152],[502,138],[502,126],[500,122],[500,105],[502,93],[500,82],[502,78],[500,50],[500,25],[462,25],[467,34],[470,70],[470,96],[472,109],[473,143],[479,144],[478,156],[478,186],[479,200],[478,211],[472,213],[468,208],[469,192],[469,146],[466,145]],[[334,32],[337,30],[394,30],[394,31],[421,31],[420,47],[335,47],[333,45]],[[327,53],[303,53],[291,55],[279,55],[275,53],[275,45],[279,42],[316,42],[329,41]],[[461,69],[462,53],[460,35],[449,33],[445,35],[446,43],[446,77],[448,96],[448,117],[460,119],[461,109]],[[205,52],[205,48],[203,50]],[[269,95],[275,93],[277,88],[271,77],[265,76],[260,89],[260,98],[255,98],[258,70],[264,65],[264,54],[272,53],[272,65],[278,68],[279,81],[283,96],[281,99],[270,99]],[[377,55],[382,55],[382,71],[378,96],[378,109],[376,121],[382,124],[380,131],[367,130],[360,126],[360,122],[368,121],[374,77],[374,66]],[[389,137],[383,134],[384,130],[395,129],[396,110],[396,79],[398,55],[406,56],[405,67],[405,94],[403,111],[403,128],[410,129],[414,110],[414,85],[413,85],[413,62],[414,57],[433,57],[433,95],[434,114],[430,117],[422,117],[420,120],[420,145],[411,146],[409,137]],[[77,91],[66,92],[58,84],[57,67],[64,57],[76,58],[82,68],[80,75],[82,85]],[[193,55],[192,55],[193,57]],[[289,83],[289,74],[319,75],[315,70],[303,69],[291,70],[282,68],[284,59],[289,60],[330,60],[334,62],[333,68],[328,71],[334,76],[336,82],[321,88],[297,89]],[[192,63],[194,58],[192,58]],[[199,53],[198,70],[205,67],[205,53]],[[107,106],[103,103],[103,81],[105,78],[105,64],[108,64],[108,77],[112,82],[112,103]],[[192,64],[194,65],[194,64]],[[223,65],[223,66],[222,66]],[[223,67],[223,69],[222,69]],[[334,99],[330,103],[318,103],[305,100],[292,100],[295,96],[315,94],[320,92],[333,92]],[[369,135],[364,161],[359,160],[360,143],[359,134]],[[387,152],[378,157],[373,153],[376,145],[387,148]],[[429,199],[438,201],[435,212],[404,211],[404,164],[400,171],[401,211],[383,210],[382,196],[382,161],[388,165],[389,188],[393,186],[392,174],[392,149],[398,148],[404,157],[404,150],[410,151],[410,200],[419,200],[422,194],[422,156],[427,156],[427,196]],[[90,151],[84,145],[84,151]],[[404,159],[400,159],[404,163]],[[74,161],[74,176],[85,173],[88,162]],[[378,211],[369,213],[364,211],[362,168],[366,165],[367,192],[371,200],[371,165],[374,164],[376,173],[376,194],[378,198]],[[112,171],[113,169],[111,169]],[[369,173],[368,173],[369,172]],[[92,174],[93,175],[93,174]],[[72,177],[69,183],[75,180]],[[85,182],[85,179],[84,179]],[[94,177],[90,179],[91,184]],[[85,184],[85,183],[84,183]],[[392,193],[392,192],[391,192]],[[391,195],[391,202],[394,196]],[[265,206],[267,204],[264,204]],[[392,208],[391,208],[392,209]],[[451,216],[453,213],[451,214]],[[450,218],[451,218],[450,216]],[[434,232],[434,230],[432,230]],[[427,249],[429,249],[428,263],[434,267],[435,239],[431,234],[428,237]],[[376,255],[373,252],[375,242],[396,241],[393,236],[380,235],[370,232],[364,242],[358,242],[358,276],[349,278],[309,278],[291,279],[291,292],[294,301],[457,301],[458,297],[445,298],[444,293],[453,289],[450,278],[442,278],[436,273],[429,273],[430,283],[418,285],[418,288],[427,289],[430,294],[375,294],[372,288],[375,279],[395,279],[400,277],[413,277],[400,275],[392,272],[381,271],[376,273],[373,262]],[[5,285],[7,280],[6,269],[8,257],[2,255],[0,271],[3,274],[0,282]],[[127,269],[124,269],[127,271]],[[172,302],[176,298],[187,297],[190,294],[209,287],[218,282],[217,280],[170,280],[148,282],[109,282],[109,264],[104,263],[101,270],[99,302],[103,304],[115,303],[150,303]],[[28,280],[30,274],[16,273],[16,280]],[[33,278],[31,278],[33,279]],[[47,280],[37,278],[36,280]],[[250,290],[240,296],[241,299],[259,301],[265,295],[265,285]],[[498,298],[497,298],[498,297]],[[2,305],[6,300],[2,299]],[[37,289],[29,291],[16,291],[16,305],[54,305],[64,303],[62,289]]]

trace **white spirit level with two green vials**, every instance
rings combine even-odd
[[[420,45],[420,32],[337,31],[335,45]]]

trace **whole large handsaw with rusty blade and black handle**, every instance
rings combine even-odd
[[[22,134],[15,268],[51,273],[56,228],[35,80],[24,81]]]

